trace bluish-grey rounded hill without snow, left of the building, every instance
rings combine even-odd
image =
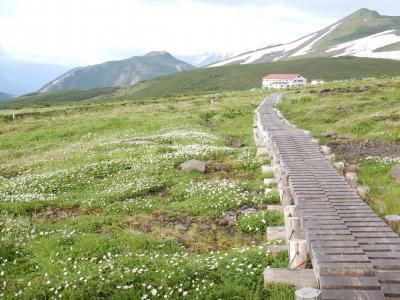
[[[177,60],[167,52],[154,51],[144,56],[72,69],[43,86],[39,92],[130,85],[160,75],[191,69],[194,67]]]

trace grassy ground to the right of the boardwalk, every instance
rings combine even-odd
[[[324,137],[328,131],[351,133],[355,141],[399,142],[399,84],[400,78],[326,84],[286,96],[280,109],[294,124],[310,130],[325,144],[331,141]],[[319,93],[332,88],[345,92]],[[371,188],[371,205],[380,215],[400,213],[400,186],[388,176],[396,163],[398,160],[390,159],[360,162],[360,184]]]

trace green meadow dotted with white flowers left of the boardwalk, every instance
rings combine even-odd
[[[227,92],[0,118],[0,294],[293,299],[288,287],[263,288],[264,267],[287,264],[285,254],[265,254],[262,233],[279,215],[260,210],[236,227],[218,225],[223,211],[277,201],[263,193],[252,144],[264,96]],[[246,147],[226,148],[233,138]],[[176,170],[192,158],[232,170]]]

